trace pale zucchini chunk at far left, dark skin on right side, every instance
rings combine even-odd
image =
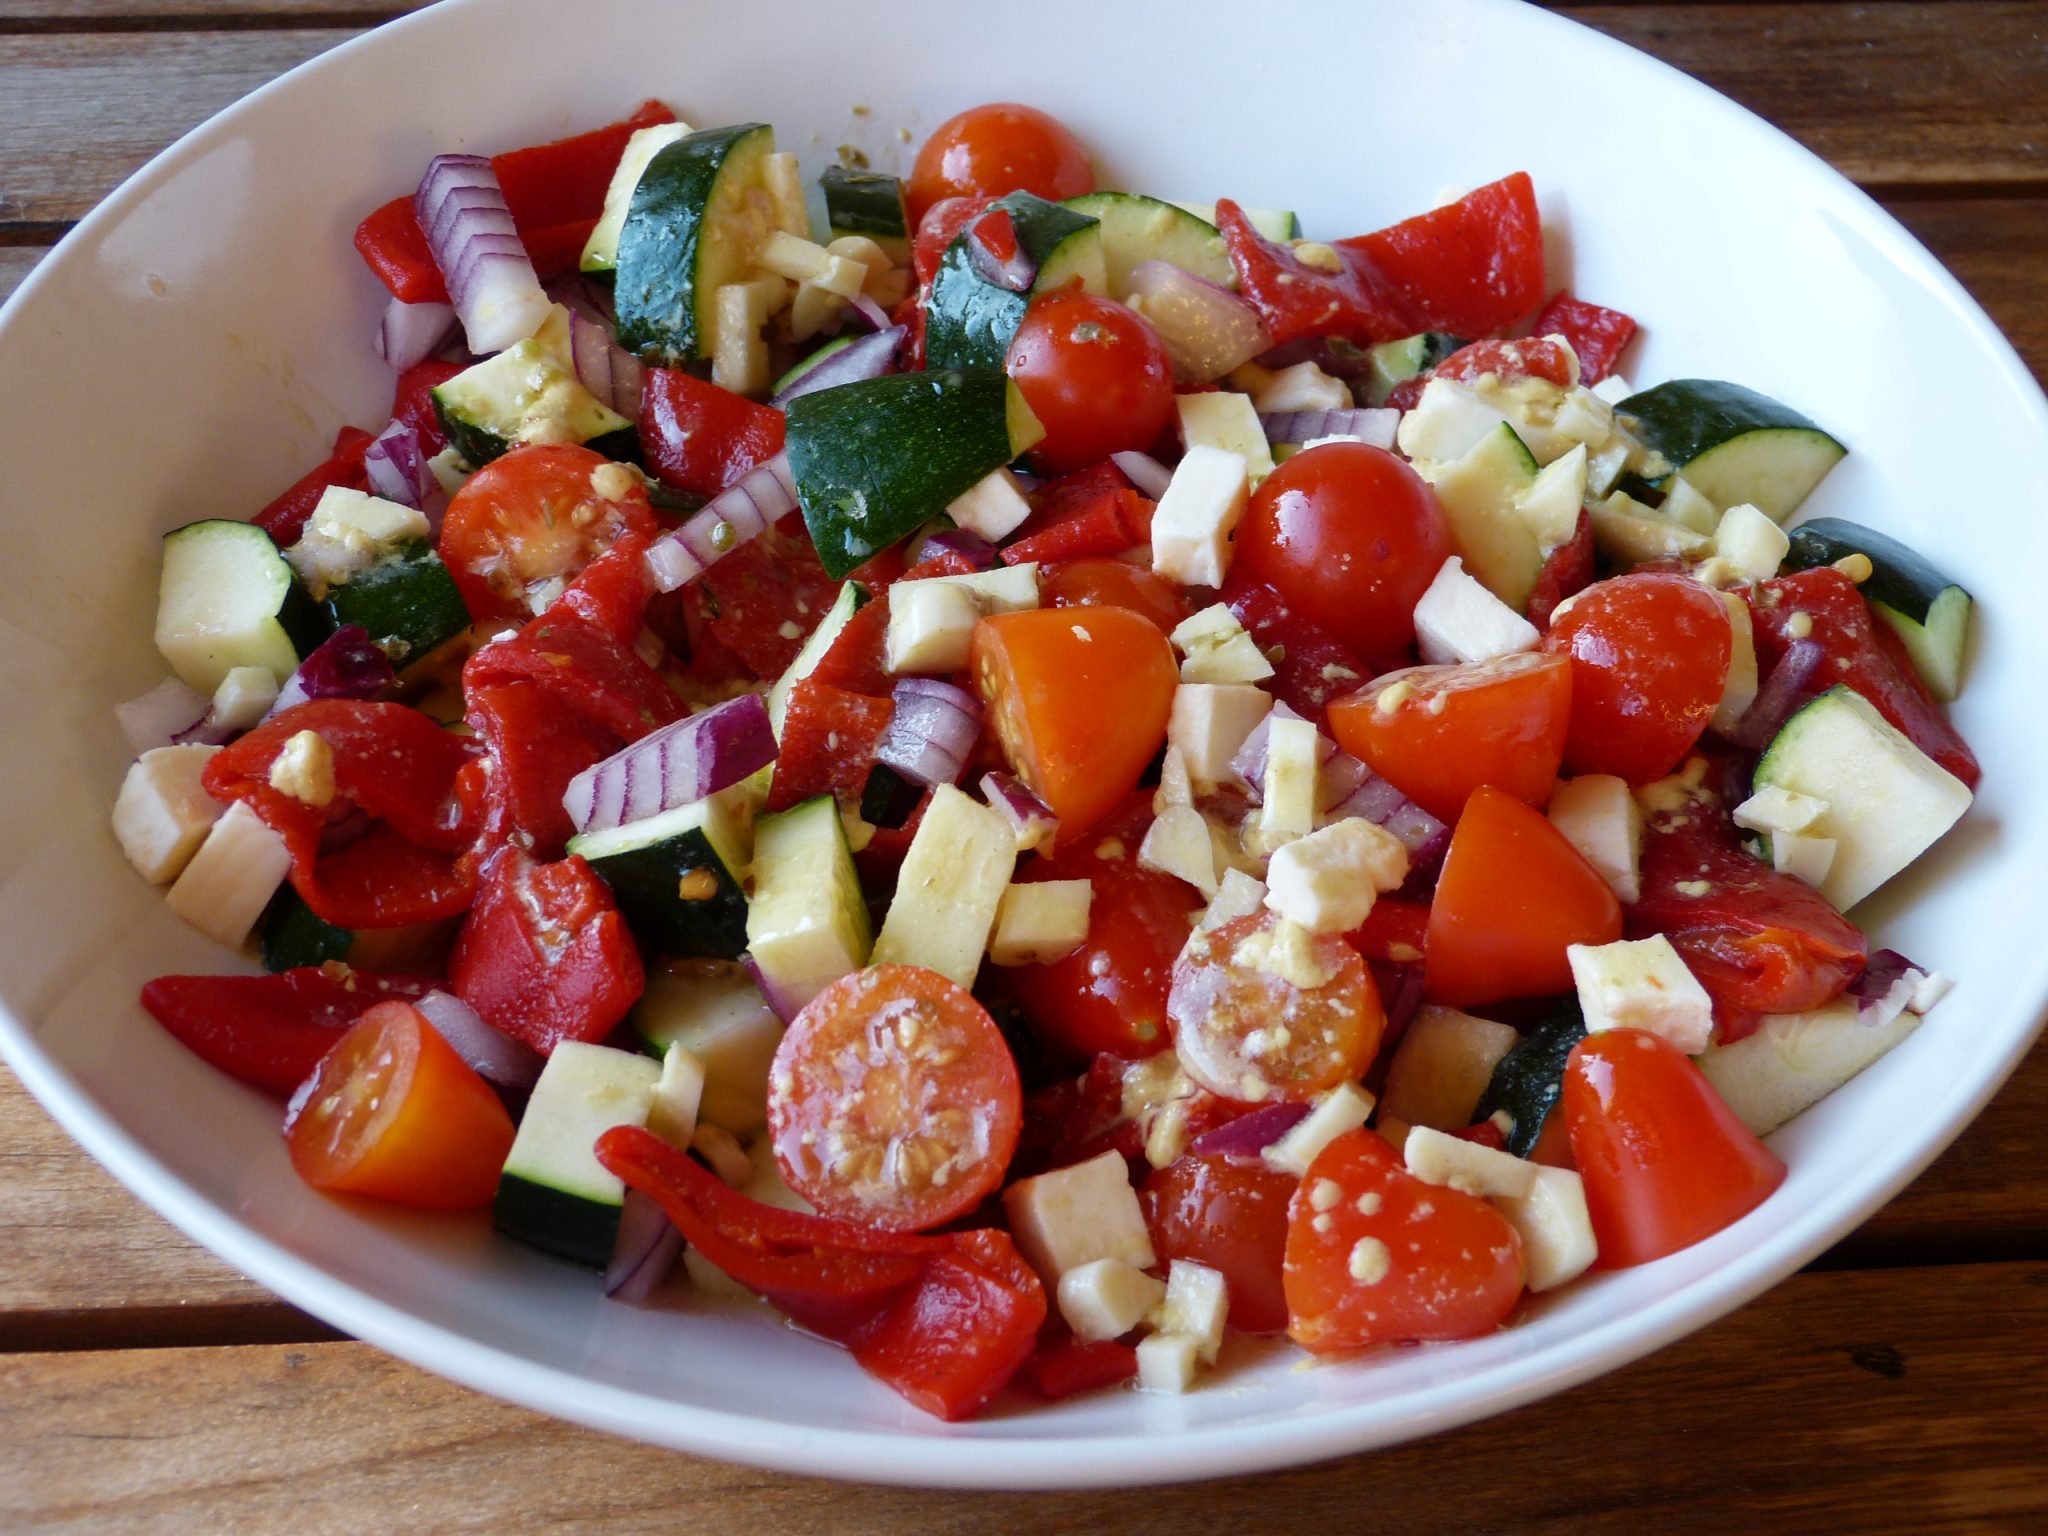
[[[156,649],[184,686],[211,698],[236,668],[283,682],[326,633],[291,563],[254,522],[209,518],[164,535]]]

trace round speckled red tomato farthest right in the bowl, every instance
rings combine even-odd
[[[1571,657],[1565,762],[1642,784],[1677,768],[1714,719],[1735,631],[1720,596],[1690,575],[1634,571],[1552,612],[1542,645]]]

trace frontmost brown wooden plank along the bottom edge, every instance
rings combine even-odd
[[[2044,1339],[2048,1266],[1802,1276],[1610,1378],[1415,1446],[1145,1493],[971,1497],[647,1450],[358,1343],[16,1356],[0,1360],[0,1526],[305,1536],[403,1511],[438,1532],[1184,1536],[1255,1511],[1276,1536],[2040,1530]]]

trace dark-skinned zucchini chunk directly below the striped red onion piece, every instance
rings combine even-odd
[[[655,954],[737,961],[748,946],[745,831],[731,795],[569,838]]]

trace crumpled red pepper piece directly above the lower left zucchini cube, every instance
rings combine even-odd
[[[449,956],[449,985],[541,1055],[602,1040],[647,985],[610,887],[582,858],[543,864],[500,848]]]

